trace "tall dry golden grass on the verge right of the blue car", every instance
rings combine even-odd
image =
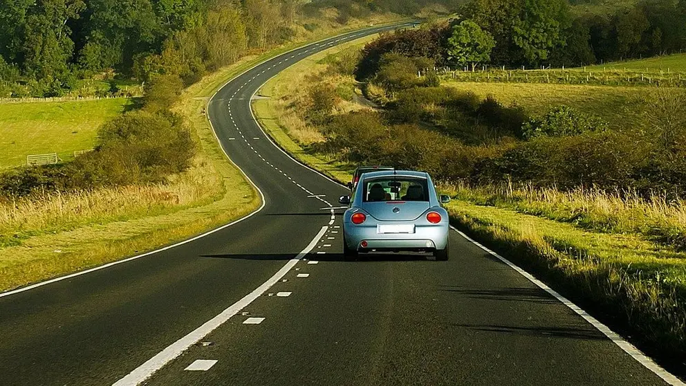
[[[478,187],[457,183],[444,188],[458,199],[479,205],[517,210],[598,232],[638,234],[675,250],[686,250],[684,202],[668,200],[658,192],[645,198],[633,190],[577,187],[562,191],[512,183]]]

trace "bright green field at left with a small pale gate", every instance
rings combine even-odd
[[[0,104],[0,168],[26,164],[30,154],[57,153],[69,160],[74,151],[92,149],[98,128],[131,103],[116,98]]]

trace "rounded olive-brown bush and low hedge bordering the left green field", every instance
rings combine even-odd
[[[107,123],[100,145],[70,163],[25,167],[0,175],[0,194],[26,196],[98,186],[158,183],[190,166],[194,143],[180,118],[132,111]]]

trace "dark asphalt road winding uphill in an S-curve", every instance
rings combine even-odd
[[[264,208],[176,248],[0,297],[0,385],[663,384],[457,232],[449,261],[342,261],[328,208],[346,190],[270,143],[250,98],[297,60],[381,29],[286,53],[224,86],[210,119]]]

